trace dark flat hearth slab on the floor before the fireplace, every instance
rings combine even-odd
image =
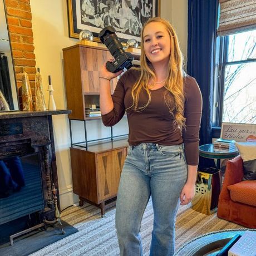
[[[67,238],[68,235],[78,232],[78,229],[72,225],[62,221],[65,234],[61,233],[60,226],[56,223],[53,227],[48,227],[47,230],[31,232],[23,235],[22,237],[14,239],[13,245],[3,244],[0,245],[1,256],[25,256],[33,252],[47,247],[56,241]]]

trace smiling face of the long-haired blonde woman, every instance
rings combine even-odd
[[[153,66],[156,63],[165,65],[169,62],[171,38],[163,23],[151,22],[146,25],[143,45],[145,55]]]

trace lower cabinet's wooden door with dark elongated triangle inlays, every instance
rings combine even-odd
[[[104,201],[117,195],[125,157],[126,147],[97,154],[97,187],[99,201]]]

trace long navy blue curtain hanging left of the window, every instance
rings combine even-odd
[[[188,67],[198,81],[203,96],[200,145],[211,143],[213,116],[214,46],[218,17],[218,0],[188,0]],[[213,161],[200,157],[199,167]]]

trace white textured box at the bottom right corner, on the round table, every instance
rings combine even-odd
[[[256,232],[247,230],[228,251],[228,256],[255,256]]]

